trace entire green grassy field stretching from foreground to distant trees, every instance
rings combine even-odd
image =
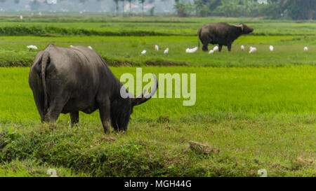
[[[197,29],[218,21],[244,22],[255,33],[237,39],[232,52],[186,54],[197,46]],[[22,26],[22,35],[27,35],[23,27],[55,27],[48,36],[44,31],[0,37],[0,176],[47,176],[48,169],[58,176],[258,176],[258,169],[268,176],[316,176],[313,21],[47,16],[0,22],[4,35],[6,27]],[[113,34],[62,34],[57,28]],[[126,35],[118,33],[121,29]],[[149,33],[135,35],[139,31]],[[26,45],[43,50],[48,43],[91,45],[117,78],[135,76],[136,66],[157,77],[196,73],[195,105],[152,98],[134,108],[125,134],[105,135],[98,111],[80,113],[79,127],[70,127],[70,116],[63,114],[56,124],[43,125],[28,85],[28,66],[37,51]],[[242,44],[258,51],[249,55],[239,49]],[[190,147],[190,141],[205,146]]]

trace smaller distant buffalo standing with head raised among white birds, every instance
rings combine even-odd
[[[230,25],[225,22],[204,24],[197,32],[199,40],[202,42],[203,51],[207,51],[207,45],[218,44],[218,51],[222,50],[223,45],[227,45],[228,50],[232,48],[234,42],[242,34],[249,34],[254,31],[253,28],[247,27],[246,24]]]

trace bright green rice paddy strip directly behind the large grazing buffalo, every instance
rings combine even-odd
[[[118,78],[123,73],[132,73],[136,76],[134,67],[111,69]],[[39,120],[32,90],[28,85],[28,72],[29,68],[0,68],[1,119]],[[183,100],[186,99],[154,98],[150,104],[144,104],[134,111],[134,115],[139,118],[158,118],[162,113],[171,117],[194,113],[303,114],[312,113],[316,108],[315,66],[266,69],[143,67],[143,74],[152,72],[158,77],[159,73],[196,73],[197,100],[194,106],[183,106]],[[96,119],[98,114],[86,117]]]

